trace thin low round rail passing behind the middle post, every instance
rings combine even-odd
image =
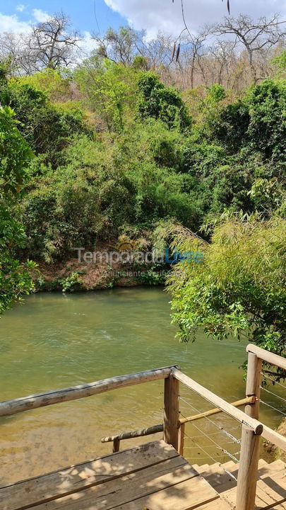
[[[234,407],[240,407],[245,404],[254,404],[255,397],[246,397],[242,400],[237,400],[236,402],[232,402],[231,405]],[[222,409],[218,409],[218,407],[215,407],[215,409],[210,409],[209,411],[205,411],[204,413],[200,414],[194,414],[193,416],[187,416],[186,418],[180,418],[178,427],[188,423],[189,421],[196,421],[199,419],[206,418],[207,416],[213,416],[213,414],[219,414],[222,412]],[[101,439],[102,443],[111,443],[112,441],[123,441],[124,439],[132,439],[136,437],[142,437],[142,436],[150,436],[150,434],[153,433],[159,433],[163,431],[163,424],[153,425],[150,427],[147,427],[146,429],[137,430],[137,431],[131,431],[131,432],[122,432],[120,434],[116,434],[115,436],[107,436],[103,437]]]

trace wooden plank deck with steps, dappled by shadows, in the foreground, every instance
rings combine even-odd
[[[0,488],[1,510],[232,510],[237,465],[191,466],[165,441],[147,443]],[[285,464],[259,463],[256,505],[286,510]]]

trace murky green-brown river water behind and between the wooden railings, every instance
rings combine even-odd
[[[26,298],[0,321],[1,400],[172,364],[228,402],[243,398],[239,365],[246,343],[201,335],[194,344],[179,344],[169,313],[169,297],[159,288]],[[102,436],[162,423],[162,390],[161,380],[0,419],[1,484],[110,453],[112,444],[102,444]],[[210,409],[191,391],[180,391],[184,416]],[[281,408],[282,401],[263,397]],[[261,406],[261,419],[275,427],[282,414]],[[239,451],[215,426],[240,438],[237,422],[223,414],[212,421],[186,425],[192,440],[186,438],[185,456],[191,463],[225,462],[230,458],[221,448],[232,455]],[[157,438],[123,441],[121,448]]]

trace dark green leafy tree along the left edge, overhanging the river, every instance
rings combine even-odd
[[[30,270],[35,263],[16,259],[25,245],[25,232],[13,218],[11,205],[25,181],[32,151],[20,135],[11,108],[0,107],[0,313],[20,295],[33,290]]]

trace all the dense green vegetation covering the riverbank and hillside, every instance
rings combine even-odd
[[[201,229],[202,263],[169,278],[181,338],[247,330],[282,353],[285,80],[181,94],[146,69],[93,54],[7,79],[2,65],[1,307],[32,290],[26,259],[122,235],[184,251]]]

